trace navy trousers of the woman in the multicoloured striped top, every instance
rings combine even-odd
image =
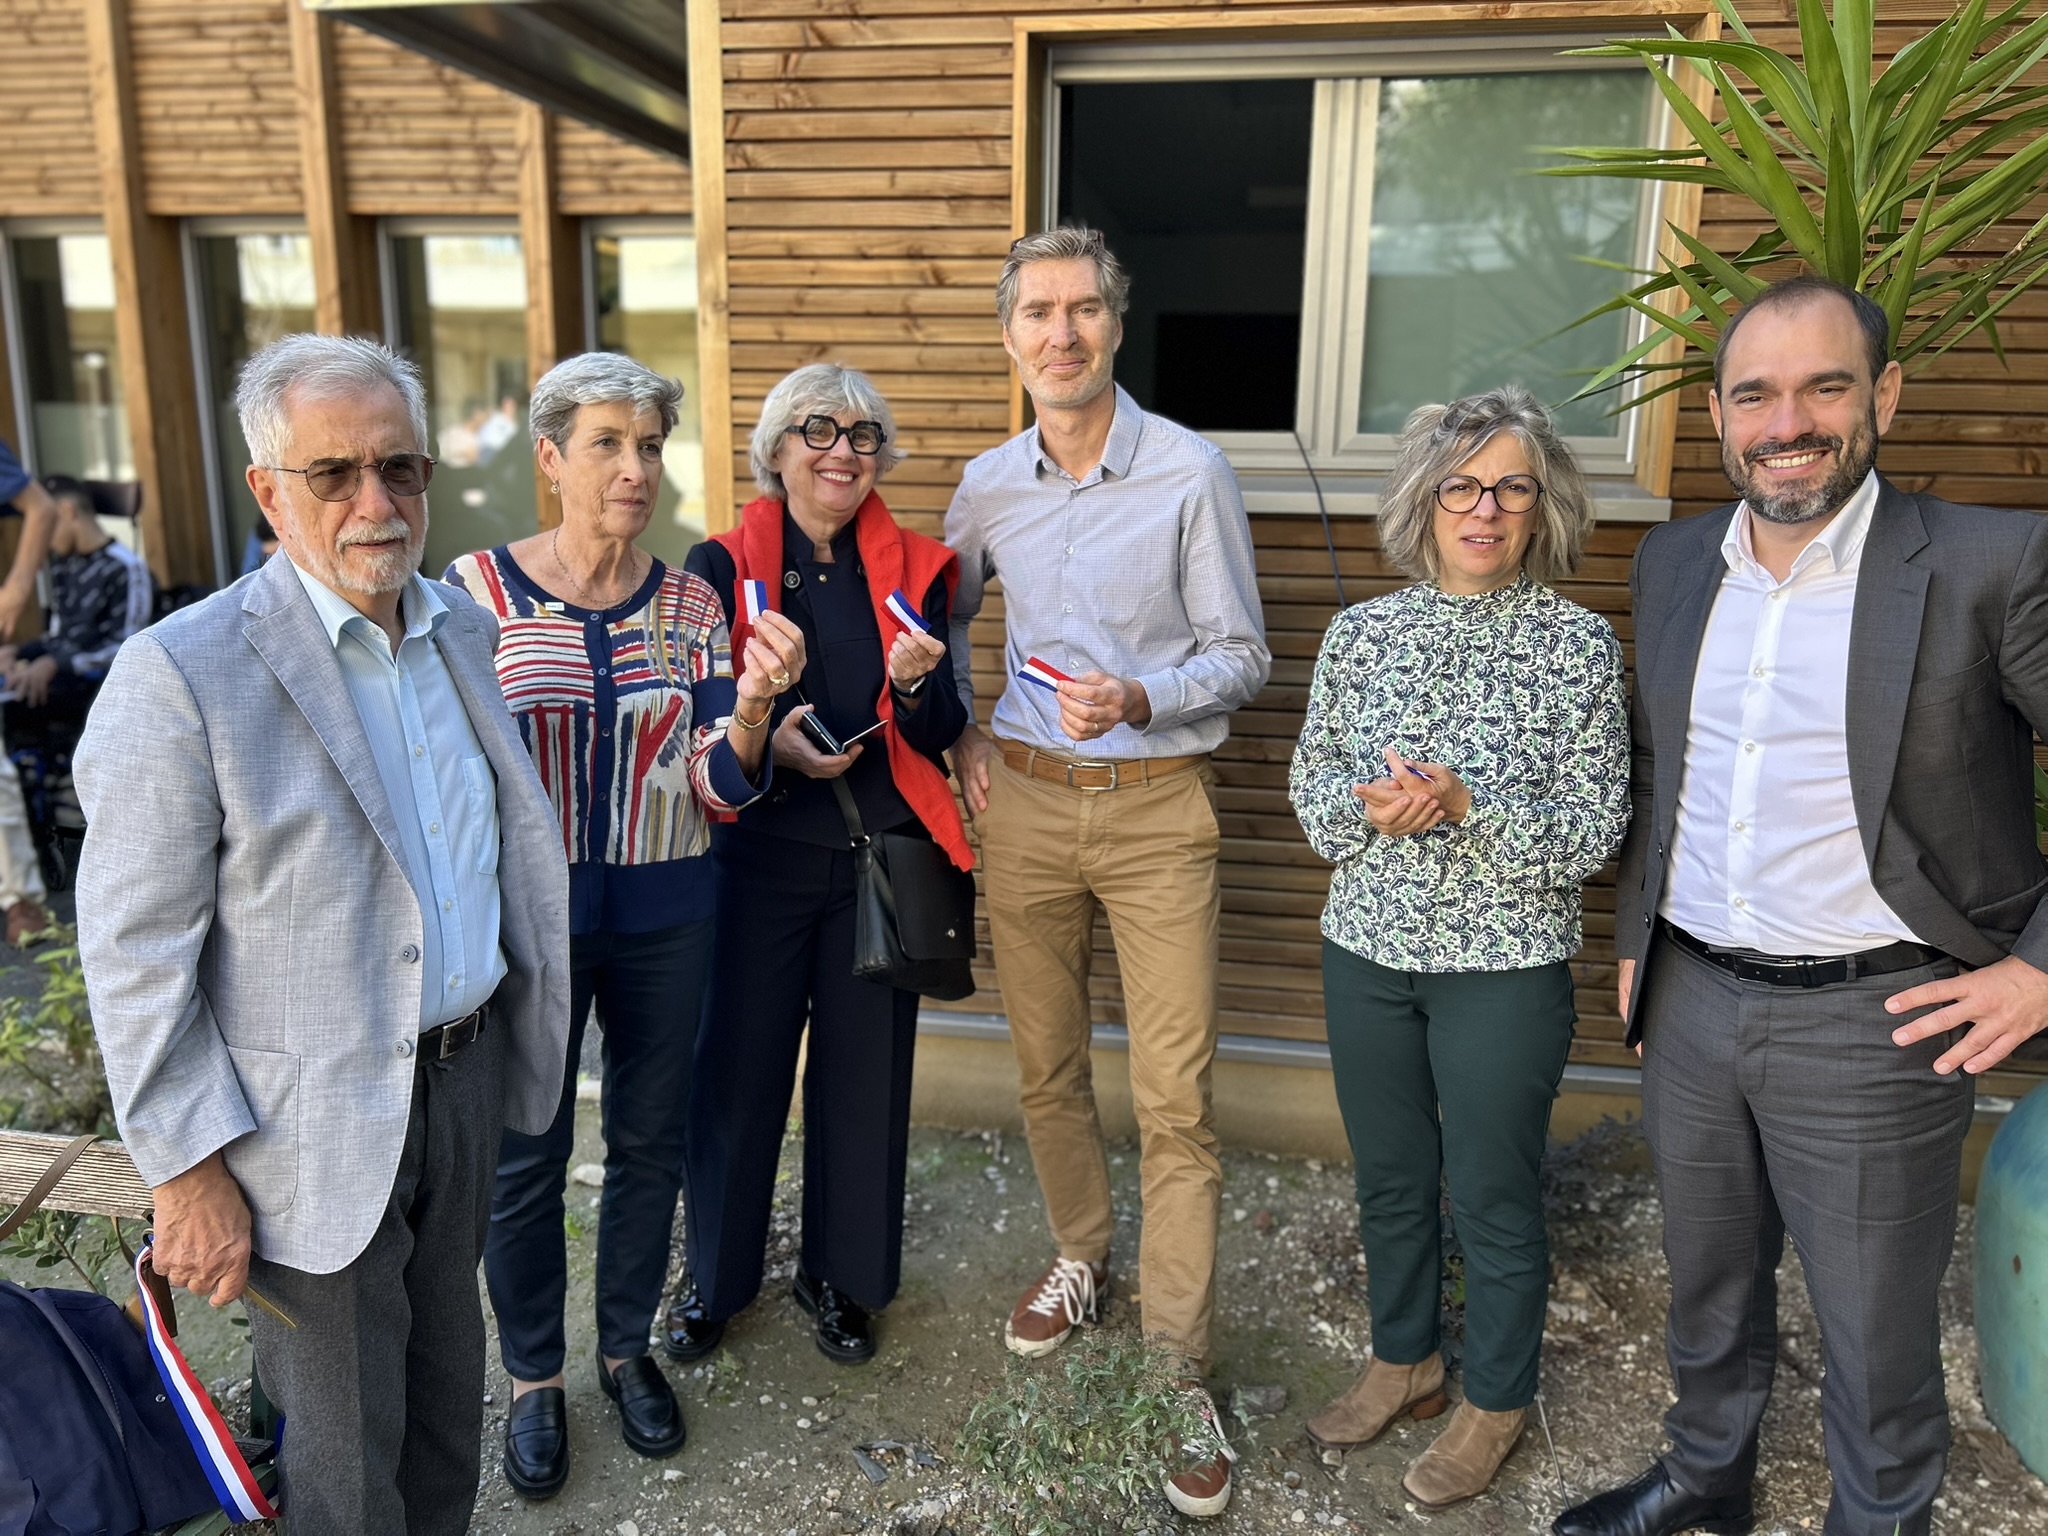
[[[682,1188],[684,1114],[711,936],[707,920],[651,934],[569,940],[569,1069],[561,1106],[539,1137],[504,1133],[483,1245],[498,1352],[518,1380],[547,1380],[561,1370],[565,1352],[561,1305],[569,1262],[561,1190],[575,1145],[575,1061],[592,999],[604,1030],[598,1346],[614,1360],[647,1354]]]

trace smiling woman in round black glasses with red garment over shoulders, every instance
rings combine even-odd
[[[870,1313],[897,1290],[918,993],[852,973],[854,854],[831,780],[868,834],[922,831],[958,868],[973,868],[973,852],[940,756],[967,725],[944,643],[956,567],[874,494],[903,459],[893,438],[889,403],[864,375],[797,369],[754,430],[764,494],[686,561],[723,600],[735,647],[768,608],[803,631],[809,662],[766,723],[774,786],[711,838],[719,940],[690,1096],[690,1278],[668,1311],[676,1360],[717,1348],[725,1319],[760,1290],[807,1024],[793,1294],[817,1348],[852,1364],[874,1354]],[[879,729],[829,752],[815,725],[829,743]]]

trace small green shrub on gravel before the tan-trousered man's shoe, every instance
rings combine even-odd
[[[1169,1532],[1161,1483],[1221,1450],[1180,1356],[1083,1329],[1047,1362],[1010,1360],[967,1413],[954,1454],[977,1473],[971,1530],[993,1536]]]

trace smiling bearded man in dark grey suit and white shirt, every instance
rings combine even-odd
[[[1616,950],[1671,1260],[1671,1450],[1559,1536],[1753,1524],[1790,1231],[1821,1321],[1827,1536],[1921,1536],[1972,1075],[2048,1024],[2048,518],[1901,492],[1884,313],[1825,279],[1724,328],[1741,502],[1636,553]]]

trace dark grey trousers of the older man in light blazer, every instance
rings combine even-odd
[[[477,1501],[483,1305],[477,1262],[504,1130],[504,1034],[414,1071],[383,1223],[334,1274],[256,1260],[250,1335],[285,1415],[289,1536],[461,1536]]]

